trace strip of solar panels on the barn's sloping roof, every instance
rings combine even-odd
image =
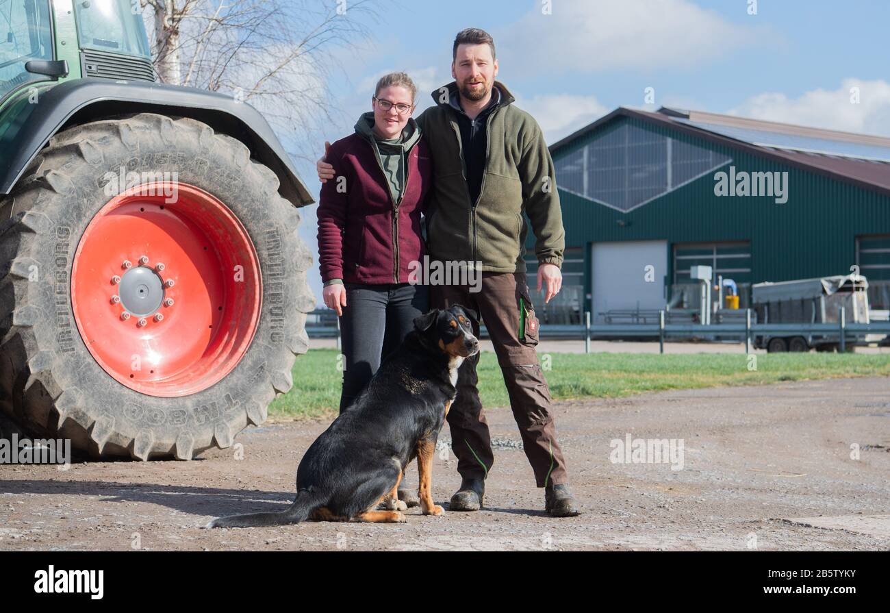
[[[813,136],[786,135],[778,132],[769,132],[767,130],[722,126],[720,124],[691,121],[690,119],[683,118],[671,119],[692,127],[697,127],[701,130],[707,130],[708,132],[728,136],[729,138],[734,138],[738,141],[763,147],[775,147],[793,151],[811,151],[827,155],[837,155],[843,158],[878,159],[890,162],[890,147],[881,147],[879,145],[864,143],[848,143],[826,138],[815,138]]]

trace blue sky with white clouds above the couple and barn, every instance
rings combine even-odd
[[[348,11],[349,0],[339,1]],[[538,120],[548,143],[619,106],[890,136],[886,0],[381,0],[380,6],[372,38],[341,55],[343,75],[331,84],[335,121],[323,130],[331,142],[352,133],[360,113],[370,110],[376,79],[387,72],[404,70],[417,82],[417,112],[432,104],[430,92],[452,80],[451,45],[467,27],[495,38],[498,80]],[[317,196],[314,167],[300,163],[299,170]],[[315,208],[303,209],[301,228],[313,253]],[[318,266],[310,274],[320,303]]]

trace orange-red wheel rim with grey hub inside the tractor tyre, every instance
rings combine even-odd
[[[149,396],[188,396],[229,374],[254,338],[262,296],[259,258],[238,217],[187,184],[142,184],[109,201],[87,225],[71,272],[90,354]]]

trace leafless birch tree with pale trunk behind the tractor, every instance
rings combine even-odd
[[[158,77],[232,94],[292,149],[331,119],[328,83],[368,41],[376,0],[140,0]]]

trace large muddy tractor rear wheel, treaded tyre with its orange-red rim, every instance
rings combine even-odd
[[[0,411],[97,459],[190,460],[263,423],[315,306],[278,189],[193,119],[55,135],[0,200]]]

